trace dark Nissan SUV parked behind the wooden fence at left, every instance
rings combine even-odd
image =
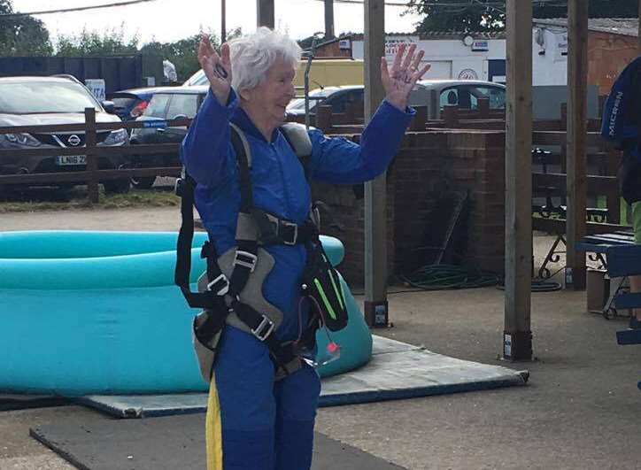
[[[96,110],[96,122],[121,122],[118,116],[105,111],[112,104],[104,105],[80,81],[72,76],[52,77],[2,77],[0,78],[0,127],[38,126],[44,124],[84,123],[84,109]],[[97,145],[125,145],[125,129],[97,131]],[[0,149],[60,149],[77,148],[79,155],[22,157],[19,155],[0,159],[0,174],[58,173],[86,169],[82,153],[85,135],[82,131],[31,132],[0,134]],[[125,165],[119,156],[98,158],[99,169],[114,169]],[[80,183],[76,183],[80,184]],[[104,181],[106,192],[127,192],[127,179]],[[62,186],[70,186],[64,183]],[[51,186],[47,183],[30,186]],[[55,184],[53,186],[60,186]]]

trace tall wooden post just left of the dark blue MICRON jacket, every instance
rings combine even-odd
[[[568,220],[566,287],[585,289],[585,253],[576,243],[585,235],[587,203],[588,4],[568,2]]]

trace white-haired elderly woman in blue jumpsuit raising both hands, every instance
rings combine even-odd
[[[329,183],[355,184],[381,174],[394,156],[413,117],[407,98],[429,68],[418,69],[422,51],[414,55],[412,46],[406,52],[403,47],[398,50],[390,69],[382,58],[387,96],[363,131],[360,145],[312,128],[307,133],[311,157],[304,170],[280,128],[285,107],[294,97],[292,81],[301,56],[297,43],[261,27],[223,44],[219,55],[203,38],[198,60],[211,89],[182,143],[181,158],[197,182],[197,210],[215,253],[239,244],[236,226],[241,225],[239,211],[246,197],[241,195],[243,171],[236,161],[238,143],[235,147],[232,142],[230,124],[244,135],[251,154],[251,183],[245,184],[251,184],[253,206],[272,214],[278,225],[303,227],[311,207],[305,173]],[[305,322],[299,312],[300,286],[307,251],[296,236],[263,247],[274,266],[263,281],[262,296],[282,312],[282,321],[274,331],[263,328],[259,334],[229,321],[224,329],[206,417],[210,470],[311,466],[319,376],[307,364],[290,374],[277,374],[279,364],[267,344],[300,336]],[[244,262],[251,265],[251,257]],[[229,310],[234,308],[232,304]]]

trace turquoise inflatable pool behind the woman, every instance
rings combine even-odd
[[[191,251],[205,270],[205,233]],[[133,394],[206,390],[191,346],[189,309],[174,286],[174,232],[0,233],[0,390]],[[322,237],[335,264],[336,238]],[[195,285],[193,289],[196,289]],[[369,360],[372,339],[344,284],[350,323],[332,339],[341,358],[321,375]],[[320,350],[327,336],[319,333]]]

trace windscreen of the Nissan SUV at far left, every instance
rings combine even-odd
[[[0,83],[0,112],[34,114],[40,112],[103,111],[81,85],[62,81]]]

